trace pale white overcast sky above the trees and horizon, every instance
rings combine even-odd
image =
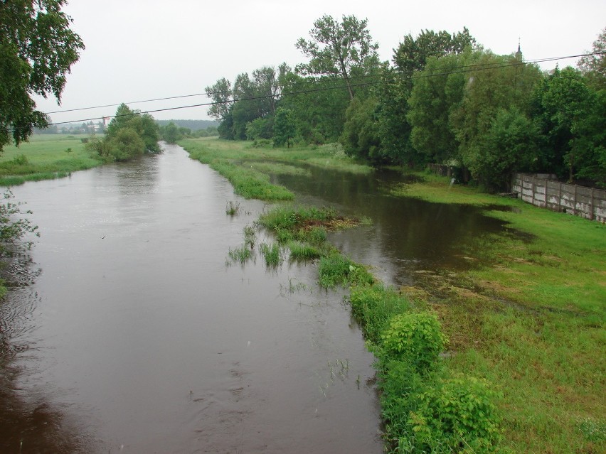
[[[368,18],[381,60],[405,35],[460,31],[498,54],[521,40],[526,60],[590,50],[606,26],[605,0],[71,0],[64,11],[86,45],[72,67],[62,104],[37,99],[44,112],[204,92],[220,77],[282,62],[306,61],[295,48],[314,21],[353,14]],[[575,65],[562,60],[560,67]],[[551,70],[554,63],[541,65]],[[208,102],[203,96],[129,104],[143,112]],[[53,121],[110,115],[116,107],[52,113]],[[153,112],[156,119],[208,119],[207,107]]]

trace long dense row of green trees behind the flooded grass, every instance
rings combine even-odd
[[[577,68],[542,72],[467,28],[408,34],[381,62],[367,26],[323,16],[296,43],[308,63],[206,87],[220,137],[340,141],[374,166],[446,164],[487,190],[507,190],[512,172],[606,185],[606,28]]]

